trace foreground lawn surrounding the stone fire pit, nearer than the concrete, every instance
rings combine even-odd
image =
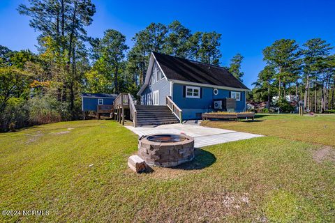
[[[137,137],[114,121],[0,134],[4,222],[334,222],[332,159],[322,146],[260,137],[197,150],[200,169],[127,167]],[[90,167],[90,165],[93,166]]]

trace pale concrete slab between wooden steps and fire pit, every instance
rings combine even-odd
[[[147,134],[187,134],[194,137],[195,147],[223,144],[228,141],[237,141],[241,139],[251,139],[262,137],[260,134],[251,134],[246,132],[236,132],[232,130],[223,130],[221,128],[209,128],[200,126],[198,123],[192,124],[170,124],[155,125],[150,127],[124,126],[133,131],[138,136]]]

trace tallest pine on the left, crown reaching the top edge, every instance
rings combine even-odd
[[[70,100],[70,111],[74,116],[75,82],[80,81],[77,73],[76,59],[78,49],[82,49],[83,41],[87,40],[87,31],[96,8],[91,0],[29,0],[29,6],[21,4],[18,11],[22,15],[31,17],[30,26],[40,32],[39,40],[50,37],[54,43],[57,56],[66,59],[62,78],[62,100]],[[40,47],[42,52],[45,47]],[[61,82],[61,79],[58,80]]]

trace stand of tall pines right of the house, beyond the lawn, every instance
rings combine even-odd
[[[267,101],[290,112],[290,101],[300,102],[305,112],[335,109],[335,55],[326,40],[313,38],[299,46],[295,40],[276,40],[263,49],[265,68],[258,74],[249,100]],[[273,100],[275,97],[276,100]]]

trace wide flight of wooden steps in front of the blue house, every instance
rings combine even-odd
[[[166,105],[135,105],[138,125],[163,125],[179,123]]]

